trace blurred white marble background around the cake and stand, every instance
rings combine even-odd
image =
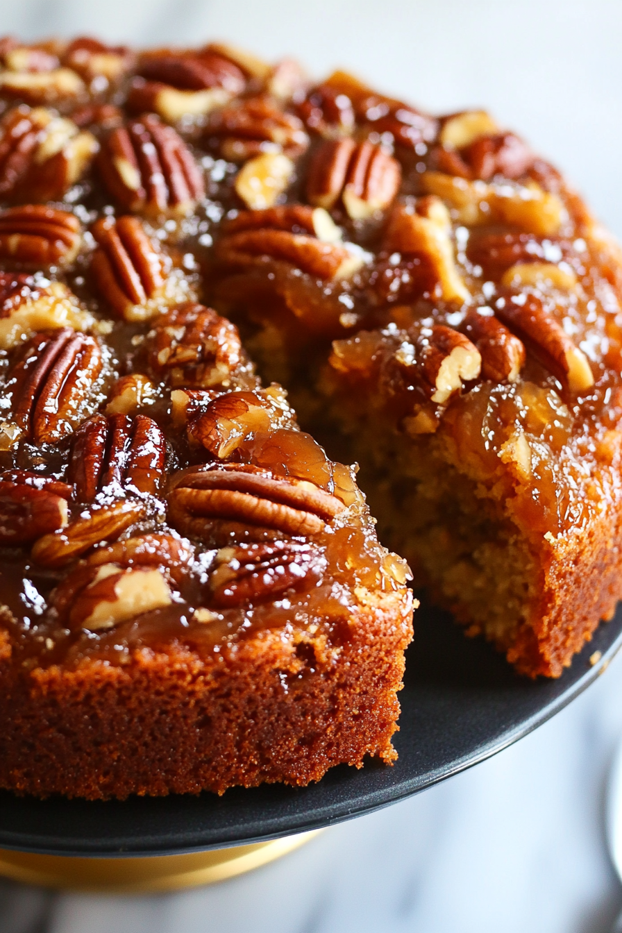
[[[622,239],[619,0],[20,0],[0,31],[137,45],[223,39],[342,66],[435,112],[483,105]],[[622,907],[603,790],[622,735],[622,660],[495,759],[325,831],[237,880],[95,898],[0,881],[0,933],[605,933]]]

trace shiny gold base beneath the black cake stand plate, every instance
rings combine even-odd
[[[320,829],[231,849],[185,856],[79,858],[0,849],[0,875],[26,884],[99,894],[155,894],[214,884],[267,865],[309,842]]]

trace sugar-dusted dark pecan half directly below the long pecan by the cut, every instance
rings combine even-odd
[[[325,563],[320,550],[296,541],[221,548],[209,579],[212,603],[229,608],[266,602],[286,590],[315,582]]]

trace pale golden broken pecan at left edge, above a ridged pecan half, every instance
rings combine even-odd
[[[0,349],[17,346],[39,330],[87,330],[93,323],[61,282],[44,286],[32,275],[0,272]]]

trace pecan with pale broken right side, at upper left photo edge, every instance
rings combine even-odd
[[[62,200],[97,147],[69,119],[43,107],[14,107],[0,121],[0,198]]]

